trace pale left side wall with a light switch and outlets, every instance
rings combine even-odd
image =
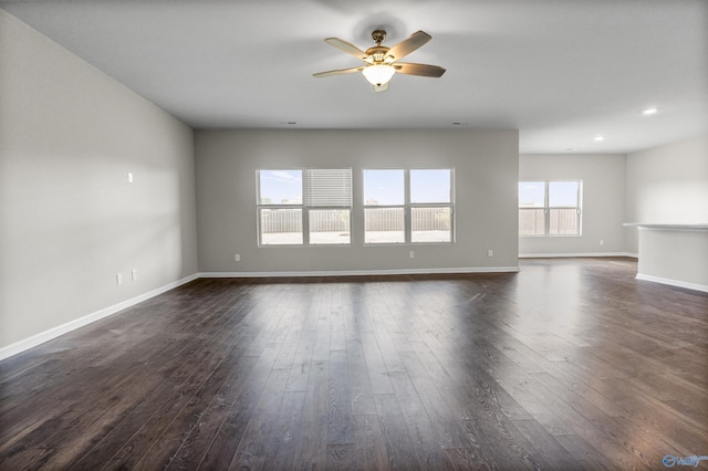
[[[0,352],[195,274],[194,186],[188,126],[0,9]]]

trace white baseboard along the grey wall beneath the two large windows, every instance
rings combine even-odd
[[[406,274],[516,273],[519,266],[476,266],[455,269],[334,270],[296,272],[201,272],[199,278],[304,278],[304,276],[377,276]]]

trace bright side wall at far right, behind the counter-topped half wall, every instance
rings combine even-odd
[[[626,222],[708,223],[708,135],[627,155]],[[625,230],[637,251],[637,230]]]

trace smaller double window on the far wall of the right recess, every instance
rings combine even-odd
[[[520,181],[519,236],[580,236],[582,181]]]

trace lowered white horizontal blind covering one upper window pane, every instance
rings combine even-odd
[[[309,207],[352,206],[352,169],[308,169],[305,170],[305,205]]]

